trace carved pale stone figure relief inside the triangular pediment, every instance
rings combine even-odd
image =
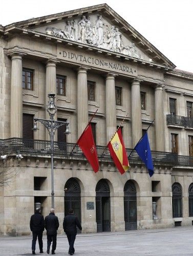
[[[46,33],[142,59],[135,44],[124,45],[119,29],[105,24],[101,15],[97,16],[97,20],[93,24],[90,16],[83,15],[79,21],[77,19],[67,20],[63,30],[48,27]]]

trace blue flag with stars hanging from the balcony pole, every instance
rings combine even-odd
[[[134,149],[136,150],[137,154],[139,155],[141,160],[146,165],[148,172],[149,172],[149,176],[152,177],[152,175],[154,174],[154,165],[153,165],[153,161],[152,161],[152,153],[151,153],[151,149],[149,146],[149,140],[148,140],[147,133],[145,133],[143,135],[143,137],[137,143],[137,145],[134,147]]]

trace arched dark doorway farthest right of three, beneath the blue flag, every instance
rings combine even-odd
[[[128,180],[124,185],[125,230],[137,229],[137,196],[135,184]]]

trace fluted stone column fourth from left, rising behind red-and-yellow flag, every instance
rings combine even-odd
[[[109,142],[116,131],[115,74],[106,76],[106,142]]]

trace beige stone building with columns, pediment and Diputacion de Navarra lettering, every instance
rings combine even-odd
[[[29,234],[37,202],[44,216],[49,213],[49,134],[41,124],[36,133],[31,129],[33,117],[49,118],[50,92],[56,95],[56,119],[68,120],[71,131],[55,135],[59,232],[69,207],[82,232],[192,225],[192,73],[177,70],[106,4],[0,26],[0,34],[1,154],[13,156],[16,174],[0,190],[1,234]],[[97,109],[95,174],[78,146],[70,153]],[[148,130],[152,178],[135,152],[130,170],[120,175],[106,150],[125,116],[128,156],[154,120]]]

